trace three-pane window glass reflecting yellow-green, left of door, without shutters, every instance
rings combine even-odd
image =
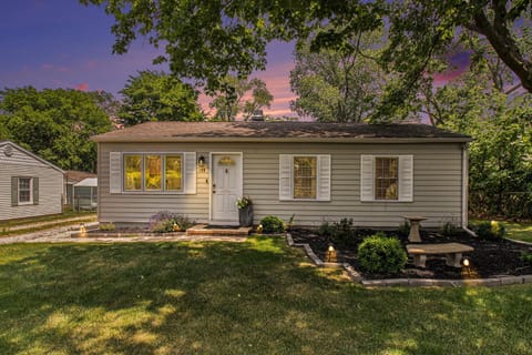
[[[183,191],[182,154],[124,154],[125,191]]]

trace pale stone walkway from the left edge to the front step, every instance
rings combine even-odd
[[[85,223],[86,227],[98,225],[98,222]],[[59,229],[40,231],[17,236],[0,237],[0,244],[12,243],[158,243],[158,242],[245,242],[242,236],[217,235],[175,235],[175,236],[122,236],[122,237],[72,237],[78,233],[79,224]]]

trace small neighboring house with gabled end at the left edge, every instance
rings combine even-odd
[[[0,221],[62,212],[64,172],[10,141],[0,141]]]

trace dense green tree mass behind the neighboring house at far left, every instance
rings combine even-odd
[[[32,87],[0,92],[0,126],[17,144],[65,170],[95,171],[94,134],[111,130],[93,93]]]

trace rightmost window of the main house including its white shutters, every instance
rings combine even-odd
[[[413,155],[361,155],[360,201],[413,201]]]

